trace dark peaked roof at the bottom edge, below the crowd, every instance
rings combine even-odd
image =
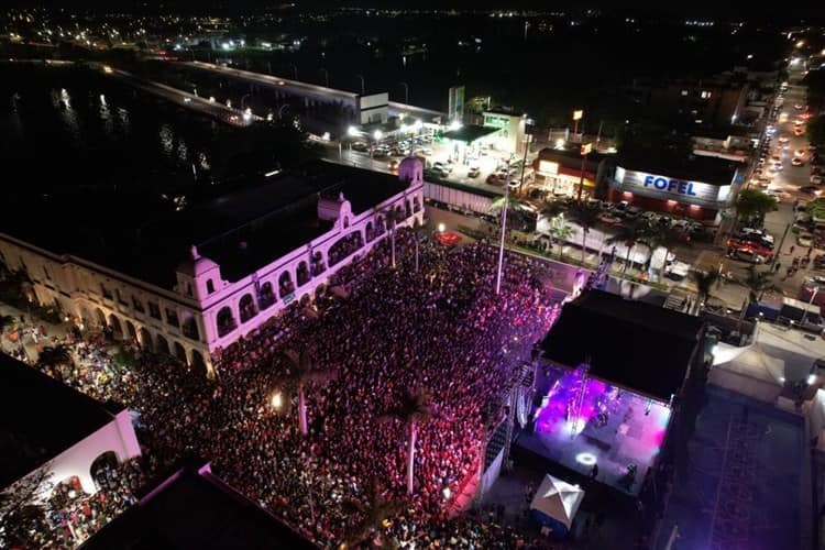
[[[84,550],[318,548],[195,464],[174,472],[87,540]]]

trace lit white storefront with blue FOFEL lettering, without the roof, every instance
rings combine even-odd
[[[715,158],[704,161],[716,162]],[[706,167],[706,166],[705,166]],[[733,201],[733,186],[740,173],[735,166],[723,164],[713,170],[684,167],[668,173],[631,169],[627,165],[615,167],[607,177],[607,200],[627,201],[644,210],[667,213],[674,218],[691,218],[707,226],[717,226],[721,211]]]

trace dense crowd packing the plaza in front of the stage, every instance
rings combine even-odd
[[[539,261],[508,254],[496,296],[494,248],[426,241],[416,272],[414,238],[399,232],[397,270],[386,268],[389,244],[382,242],[339,271],[314,305],[296,304],[221,350],[215,383],[148,353],[134,370],[117,367],[100,342],[87,341],[74,344],[76,366],[51,374],[139,410],[139,439],[156,464],[185,452],[209,458],[217,474],[321,544],[346,538],[366,517],[367,485],[376,480],[383,497],[405,510],[385,522],[399,542],[529,548],[509,529],[448,519],[444,495],[457,497],[477,471],[514,367],[559,307]],[[334,382],[306,387],[308,436],[289,406],[297,399],[282,360],[288,349],[309,351],[319,371],[334,373]],[[410,391],[426,392],[432,413],[418,429],[411,497],[409,430],[385,418]],[[289,396],[283,409],[271,406],[276,392]]]

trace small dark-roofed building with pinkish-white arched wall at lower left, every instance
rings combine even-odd
[[[129,411],[100,404],[61,382],[0,353],[0,492],[14,492],[26,480],[52,487],[76,479],[97,493],[94,473],[140,457]],[[32,483],[33,484],[33,483]]]

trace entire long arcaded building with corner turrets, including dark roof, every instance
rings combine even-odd
[[[150,220],[95,257],[89,246],[74,253],[65,235],[56,245],[45,233],[36,242],[0,233],[0,262],[28,274],[31,299],[57,304],[81,329],[108,327],[213,375],[211,352],[311,299],[388,234],[387,212],[405,215],[400,226],[424,223],[422,170],[416,158],[397,177],[319,161]]]

